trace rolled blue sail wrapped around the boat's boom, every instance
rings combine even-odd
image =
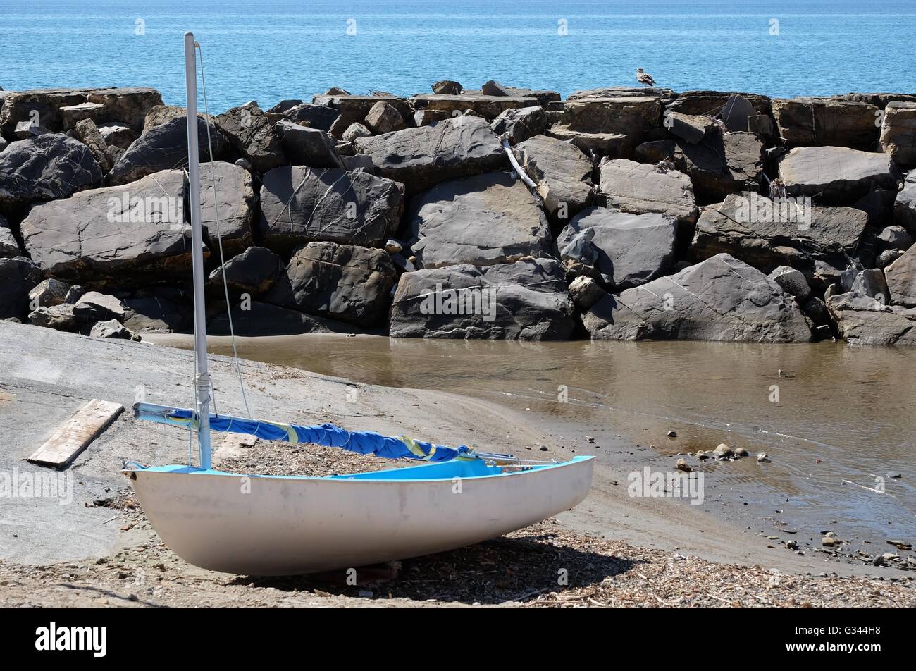
[[[196,428],[197,415],[192,410],[170,408],[152,403],[135,403],[134,415],[159,424],[173,424]],[[447,447],[413,440],[404,435],[397,438],[376,434],[374,431],[347,431],[334,424],[300,426],[264,420],[242,419],[229,415],[210,415],[213,431],[256,435],[264,440],[289,443],[311,443],[328,447],[342,447],[361,455],[375,455],[386,459],[418,459],[423,461],[451,461],[476,458],[468,446]]]

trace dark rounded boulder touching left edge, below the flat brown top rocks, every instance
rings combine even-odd
[[[0,153],[0,204],[66,198],[100,181],[93,152],[60,133],[10,142]]]

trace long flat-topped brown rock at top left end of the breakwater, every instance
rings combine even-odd
[[[11,134],[16,124],[33,121],[35,114],[41,126],[54,131],[68,127],[65,116],[74,124],[83,118],[96,125],[119,121],[139,131],[149,110],[159,104],[162,96],[149,88],[11,91],[0,110],[0,133]]]

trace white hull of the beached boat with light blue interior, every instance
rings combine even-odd
[[[445,465],[404,469],[444,473]],[[521,529],[583,501],[593,457],[482,477],[242,476],[125,471],[156,532],[191,564],[280,576],[429,555]],[[385,474],[398,473],[383,471]]]

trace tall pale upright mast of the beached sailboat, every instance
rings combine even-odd
[[[201,468],[210,468],[210,373],[207,371],[207,310],[203,297],[203,235],[201,231],[201,165],[197,145],[197,52],[194,34],[184,34],[184,73],[188,93],[188,186],[191,196],[191,263],[194,270],[194,354],[197,357],[198,428]]]

